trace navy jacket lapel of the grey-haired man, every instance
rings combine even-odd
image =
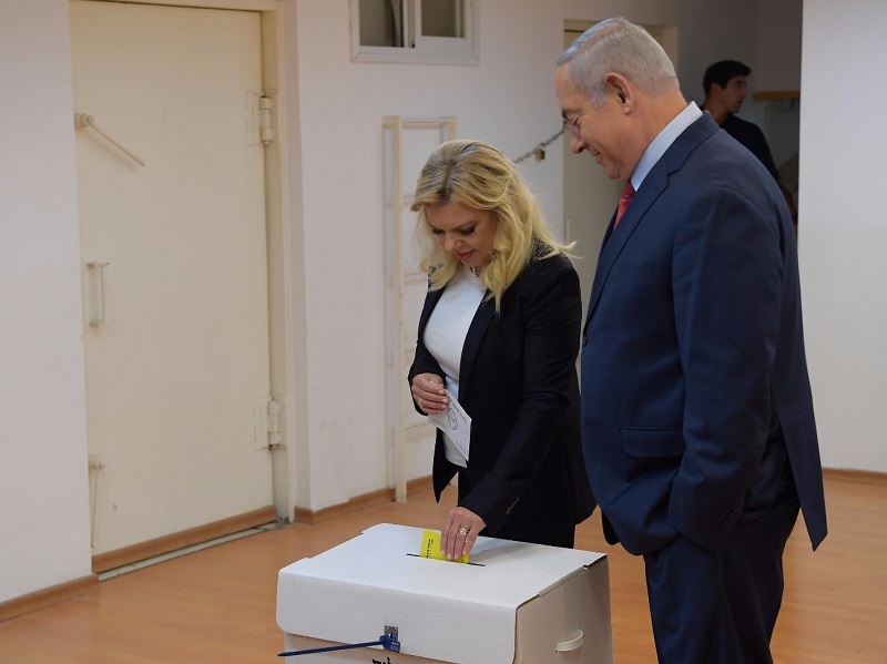
[[[672,174],[681,168],[687,156],[718,129],[717,123],[707,113],[686,127],[644,177],[641,188],[634,194],[628,208],[625,208],[625,214],[622,215],[622,219],[619,222],[619,232],[613,229],[615,214],[610,219],[610,225],[606,228],[601,246],[601,254],[598,257],[598,268],[594,272],[585,327],[588,327],[589,320],[594,314],[613,264],[643,219],[646,211],[665,191]]]

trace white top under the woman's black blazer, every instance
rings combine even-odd
[[[486,293],[487,287],[462,265],[447,284],[425,327],[425,347],[443,369],[446,388],[457,399],[465,338]],[[443,449],[451,463],[462,468],[467,466],[465,457],[446,433]]]

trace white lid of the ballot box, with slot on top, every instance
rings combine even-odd
[[[344,644],[398,629],[401,652],[510,663],[517,609],[602,553],[479,538],[471,564],[419,558],[422,529],[380,523],[278,574],[284,632]],[[458,635],[458,636],[453,636]]]

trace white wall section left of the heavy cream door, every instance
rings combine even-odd
[[[0,602],[86,576],[68,3],[0,3]]]

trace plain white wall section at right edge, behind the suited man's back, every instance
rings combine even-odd
[[[801,267],[823,462],[887,471],[883,0],[805,0]]]

